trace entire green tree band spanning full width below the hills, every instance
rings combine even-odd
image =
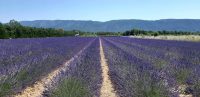
[[[0,23],[0,39],[9,38],[36,38],[36,37],[63,37],[74,36],[129,36],[129,35],[200,35],[200,32],[184,32],[184,31],[145,31],[132,29],[125,32],[82,32],[78,30],[65,31],[63,29],[54,28],[35,28],[22,26],[19,22],[11,20],[9,23]]]

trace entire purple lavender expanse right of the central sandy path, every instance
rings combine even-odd
[[[106,37],[104,47],[123,97],[200,95],[200,43]]]

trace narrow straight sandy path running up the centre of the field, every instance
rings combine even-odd
[[[102,77],[103,82],[100,90],[100,97],[118,97],[116,92],[114,91],[112,82],[109,77],[109,68],[105,59],[102,42],[100,41],[100,56],[101,56],[101,68],[102,68]]]

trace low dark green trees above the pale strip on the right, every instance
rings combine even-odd
[[[145,31],[132,29],[130,31],[125,31],[123,36],[129,35],[148,35],[148,36],[158,36],[158,35],[200,35],[200,32],[184,32],[184,31]]]

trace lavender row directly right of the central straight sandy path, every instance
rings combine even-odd
[[[110,77],[120,97],[168,97],[173,94],[162,84],[153,66],[104,40]]]

